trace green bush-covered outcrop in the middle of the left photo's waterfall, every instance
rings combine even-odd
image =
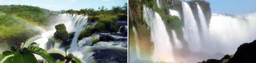
[[[54,38],[59,40],[66,41],[69,37],[69,33],[66,30],[66,27],[64,24],[58,24],[55,26],[56,32],[54,33]]]

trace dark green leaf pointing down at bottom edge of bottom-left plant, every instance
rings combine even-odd
[[[21,54],[21,50],[15,51],[12,62],[13,63],[23,63],[23,57]]]

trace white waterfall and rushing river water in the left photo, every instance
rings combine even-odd
[[[64,50],[64,47],[60,47],[61,43],[54,42],[52,37],[55,33],[55,25],[64,24],[66,30],[71,33],[75,32],[74,37],[69,39],[72,40],[71,48],[69,52],[74,56],[83,59],[86,62],[126,62],[127,61],[127,35],[124,34],[125,30],[127,33],[127,22],[118,21],[117,23],[124,24],[118,33],[95,33],[90,37],[83,38],[78,41],[78,36],[81,30],[87,26],[94,26],[96,23],[88,23],[88,15],[76,15],[76,14],[59,14],[53,18],[55,22],[48,26],[46,31],[42,31],[40,39],[36,40],[40,48],[45,50],[49,48],[60,48]],[[92,41],[99,39],[100,36],[107,35],[114,37],[114,41],[100,41],[99,43],[92,45]],[[126,40],[125,40],[126,39]],[[51,41],[53,41],[51,43]],[[79,42],[79,43],[78,43]],[[119,53],[119,54],[117,54]],[[126,57],[125,57],[126,56]],[[36,55],[38,59],[42,57]],[[123,60],[125,59],[125,60]]]

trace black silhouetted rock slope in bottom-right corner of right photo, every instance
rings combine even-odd
[[[240,45],[234,55],[225,55],[220,60],[208,59],[199,63],[255,63],[255,53],[256,40]]]

